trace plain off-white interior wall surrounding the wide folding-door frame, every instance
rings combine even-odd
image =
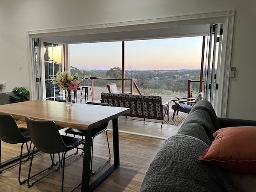
[[[255,8],[255,0],[0,0],[0,82],[4,92],[29,89],[26,31],[235,9],[227,117],[254,120]]]

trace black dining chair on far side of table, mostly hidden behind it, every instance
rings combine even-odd
[[[95,102],[87,102],[86,104],[91,104],[91,105],[102,105],[102,106],[109,106],[108,103],[95,103]],[[110,154],[110,147],[109,147],[109,142],[108,142],[108,136],[107,136],[107,125],[108,125],[108,121],[104,124],[101,124],[97,127],[95,127],[92,130],[92,154],[91,154],[91,174],[95,174],[96,171],[98,171],[101,167],[103,167],[107,162],[110,161],[111,159],[111,154]],[[72,134],[74,135],[74,137],[77,136],[81,136],[82,139],[86,139],[85,135],[86,135],[86,130],[79,130],[79,129],[75,129],[75,128],[68,128],[67,130],[65,130],[66,135],[67,134]],[[107,146],[108,146],[108,153],[109,153],[109,157],[108,159],[103,162],[98,168],[96,168],[94,171],[92,171],[92,157],[93,157],[93,142],[94,142],[94,138],[98,135],[100,135],[101,133],[106,133],[106,137],[107,137]]]

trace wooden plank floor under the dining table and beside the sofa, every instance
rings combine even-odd
[[[111,130],[111,122],[108,128],[108,136],[110,140],[110,151],[113,157],[113,137]],[[129,119],[119,119],[119,148],[120,148],[120,167],[117,168],[107,179],[95,189],[95,192],[139,192],[140,185],[146,170],[154,158],[158,148],[164,142],[164,138],[168,138],[176,134],[179,126],[171,126],[161,124],[135,121]],[[64,130],[60,131],[64,134]],[[143,136],[146,135],[146,136]],[[161,138],[161,139],[159,139]],[[20,151],[18,144],[6,144],[2,142],[1,162],[11,157],[17,156]],[[107,158],[107,142],[105,134],[101,134],[95,138],[93,167],[96,168],[100,162]],[[82,160],[78,157],[65,167],[64,191],[70,191],[81,181],[82,176]],[[22,164],[22,178],[28,173],[29,163]],[[33,161],[32,171],[35,172],[40,168],[46,167],[50,163],[50,156],[40,154]],[[101,168],[91,180],[97,177],[101,171],[113,164],[113,160]],[[27,187],[27,183],[19,185],[18,183],[18,166],[10,168],[0,174],[0,192],[58,192],[61,186],[61,172],[56,171],[45,179],[39,181],[31,188]],[[80,191],[80,187],[75,192]]]

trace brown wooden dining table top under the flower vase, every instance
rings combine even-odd
[[[81,130],[91,129],[104,122],[130,112],[129,108],[63,102],[52,100],[30,100],[0,105],[0,113],[11,114],[13,118],[24,120],[30,117],[37,120],[51,120],[60,127]]]

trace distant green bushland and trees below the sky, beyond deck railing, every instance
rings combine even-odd
[[[110,70],[80,70],[71,66],[71,74],[82,73],[91,77],[102,78],[122,78],[122,69],[118,67]],[[188,80],[200,80],[200,69],[188,70],[127,70],[125,79],[134,78],[139,89],[163,89],[172,92],[186,92],[188,90]],[[83,82],[90,84],[90,80]],[[106,86],[108,83],[116,83],[121,86],[120,80],[94,80],[94,86]],[[130,87],[130,81],[126,81],[125,87]],[[196,88],[197,87],[197,88]],[[193,87],[193,91],[199,91],[199,85]]]

